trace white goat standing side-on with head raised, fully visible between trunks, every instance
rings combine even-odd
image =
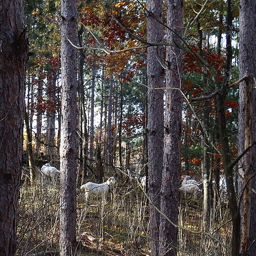
[[[110,177],[106,182],[103,182],[103,183],[87,182],[84,185],[82,185],[80,189],[85,190],[86,201],[90,194],[96,194],[96,195],[101,195],[102,201],[105,202],[110,185],[115,183],[116,183],[115,177]]]

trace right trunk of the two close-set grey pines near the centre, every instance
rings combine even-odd
[[[182,44],[183,0],[167,1],[167,42]],[[181,85],[182,52],[178,47],[166,47],[166,110],[164,120],[164,157],[161,187],[161,211],[178,225],[179,181],[181,155]],[[160,218],[159,254],[177,255],[178,229],[163,215]]]

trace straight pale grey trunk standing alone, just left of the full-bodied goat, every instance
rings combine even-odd
[[[76,255],[76,0],[61,1],[60,255]]]

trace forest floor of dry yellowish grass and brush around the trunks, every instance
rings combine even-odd
[[[59,189],[41,179],[20,189],[19,256],[57,256],[59,248]],[[138,182],[117,185],[106,204],[77,190],[77,255],[149,255],[148,207]],[[181,197],[178,255],[229,255],[227,206],[215,209],[210,233],[204,233],[202,198]],[[213,216],[213,215],[212,215]]]

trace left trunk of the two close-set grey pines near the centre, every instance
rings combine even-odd
[[[147,0],[147,41],[161,43],[163,40],[162,0]],[[150,46],[147,50],[148,82],[148,196],[149,202],[149,245],[151,255],[158,255],[160,189],[163,169],[164,145],[164,70],[162,46]]]

